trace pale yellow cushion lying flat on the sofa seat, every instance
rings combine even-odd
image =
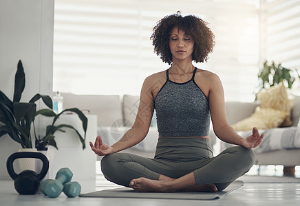
[[[233,128],[238,131],[252,130],[253,127],[258,129],[276,128],[283,123],[286,116],[286,111],[257,106],[253,115],[233,124]]]

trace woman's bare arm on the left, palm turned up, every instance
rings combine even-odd
[[[95,145],[89,142],[92,150],[96,155],[108,155],[111,153],[119,152],[127,148],[135,146],[146,137],[151,119],[154,111],[153,100],[153,77],[149,76],[144,80],[142,90],[140,92],[140,104],[138,106],[138,113],[133,126],[127,130],[125,135],[112,146],[108,146],[102,142],[100,136],[96,137]]]

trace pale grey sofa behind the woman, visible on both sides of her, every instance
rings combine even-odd
[[[118,141],[132,126],[139,104],[139,97],[134,95],[75,95],[72,93],[62,93],[61,95],[63,96],[63,108],[77,107],[85,113],[97,115],[98,135],[109,145]],[[261,144],[262,147],[259,146],[255,149],[257,165],[283,165],[286,168],[293,168],[295,165],[300,165],[300,131],[299,127],[297,127],[300,116],[300,98],[294,98],[292,103],[292,126],[261,130],[261,133],[266,133],[267,137],[265,136],[265,138],[267,141],[264,139],[263,144]],[[226,102],[228,122],[232,125],[250,116],[258,105],[257,102]],[[286,133],[282,130],[292,130],[292,133]],[[250,131],[239,133],[243,137],[247,137]],[[274,133],[292,134],[293,137],[283,138],[275,135],[277,137],[275,142],[270,141]],[[217,141],[217,137],[215,137],[212,129],[210,136],[215,155],[228,146],[231,146]],[[284,146],[277,145],[277,141],[283,141],[284,139],[294,142],[284,144]],[[126,151],[144,157],[153,157],[157,141],[158,131],[154,114],[147,137],[140,144]],[[272,144],[272,146],[266,146],[267,144]]]

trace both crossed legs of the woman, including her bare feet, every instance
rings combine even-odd
[[[228,148],[206,161],[201,168],[186,172],[177,179],[166,175],[164,168],[160,168],[162,164],[157,166],[155,160],[136,155],[108,155],[103,158],[105,161],[101,161],[101,165],[109,181],[132,187],[137,192],[217,192],[246,173],[254,159],[252,150],[240,146]]]

